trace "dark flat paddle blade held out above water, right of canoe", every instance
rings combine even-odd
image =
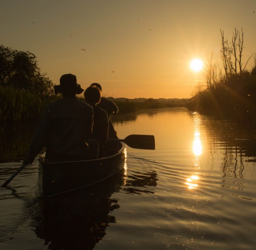
[[[155,137],[150,135],[131,134],[121,141],[131,148],[155,149]]]

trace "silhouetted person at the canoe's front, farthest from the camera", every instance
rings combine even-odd
[[[102,91],[102,87],[97,82],[92,83],[90,86],[95,86]],[[108,130],[108,138],[117,138],[116,131],[113,127],[113,124],[111,122],[111,114],[117,114],[118,113],[118,107],[114,102],[111,100],[107,100],[104,97],[101,97],[100,103],[97,104],[98,107],[104,109],[107,112],[108,120],[109,120],[109,130]]]

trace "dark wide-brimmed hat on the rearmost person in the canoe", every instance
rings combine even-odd
[[[59,79],[59,85],[54,86],[55,95],[59,93],[74,93],[81,94],[84,89],[80,84],[77,84],[77,77],[72,74],[62,75]]]

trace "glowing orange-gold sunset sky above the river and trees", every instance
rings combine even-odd
[[[36,55],[59,84],[73,73],[105,96],[189,98],[202,80],[190,61],[221,36],[244,31],[244,62],[256,51],[255,0],[0,0],[1,44]],[[253,59],[247,69],[251,69]]]

